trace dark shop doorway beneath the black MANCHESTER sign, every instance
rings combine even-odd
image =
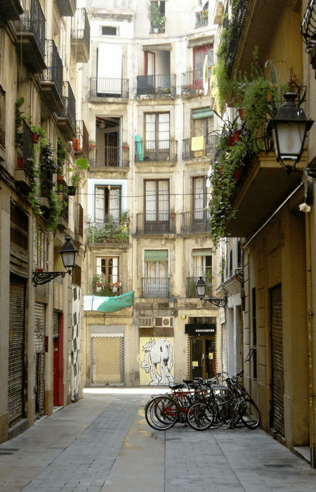
[[[190,337],[190,377],[209,379],[216,375],[215,339]]]

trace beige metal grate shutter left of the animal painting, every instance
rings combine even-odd
[[[91,385],[124,383],[124,335],[91,335]]]

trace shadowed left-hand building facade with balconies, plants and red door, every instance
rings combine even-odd
[[[68,185],[88,157],[77,93],[88,36],[74,0],[1,2],[0,441],[82,392],[84,203]],[[71,275],[65,236],[77,250]]]

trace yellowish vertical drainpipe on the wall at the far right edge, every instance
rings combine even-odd
[[[310,411],[310,466],[316,468],[315,453],[315,422],[314,422],[314,380],[313,380],[313,347],[312,347],[312,261],[310,248],[310,212],[305,213],[306,231],[306,280],[307,280],[307,307],[308,307],[308,391]]]

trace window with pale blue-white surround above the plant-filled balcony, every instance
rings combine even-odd
[[[96,186],[96,223],[104,224],[109,219],[119,226],[121,214],[121,186]]]

